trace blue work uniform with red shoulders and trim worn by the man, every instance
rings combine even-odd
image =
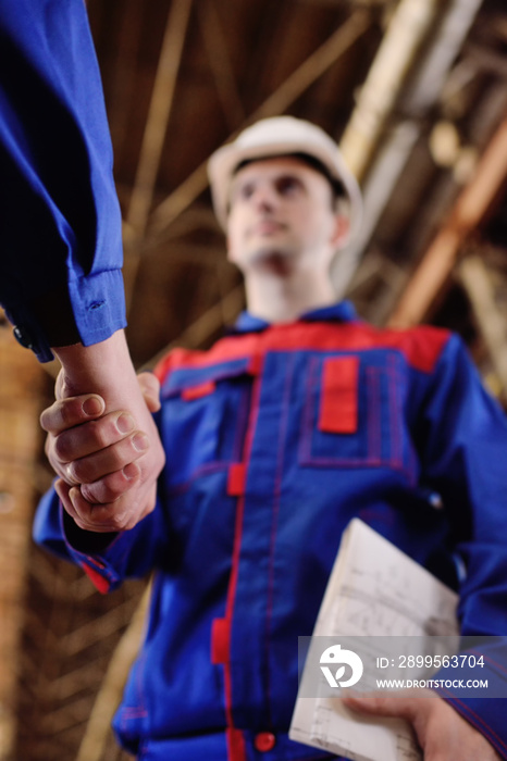
[[[244,314],[158,374],[153,513],[96,539],[52,494],[35,528],[104,591],[156,571],[115,719],[140,759],[329,758],[287,729],[298,637],[355,516],[459,589],[463,634],[507,633],[507,424],[457,336],[379,330],[347,302],[273,326]],[[455,706],[507,759],[504,700]]]

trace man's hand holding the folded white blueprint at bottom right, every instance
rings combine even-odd
[[[493,746],[445,700],[429,690],[342,693],[347,708],[375,716],[398,716],[413,726],[424,761],[502,761]]]

